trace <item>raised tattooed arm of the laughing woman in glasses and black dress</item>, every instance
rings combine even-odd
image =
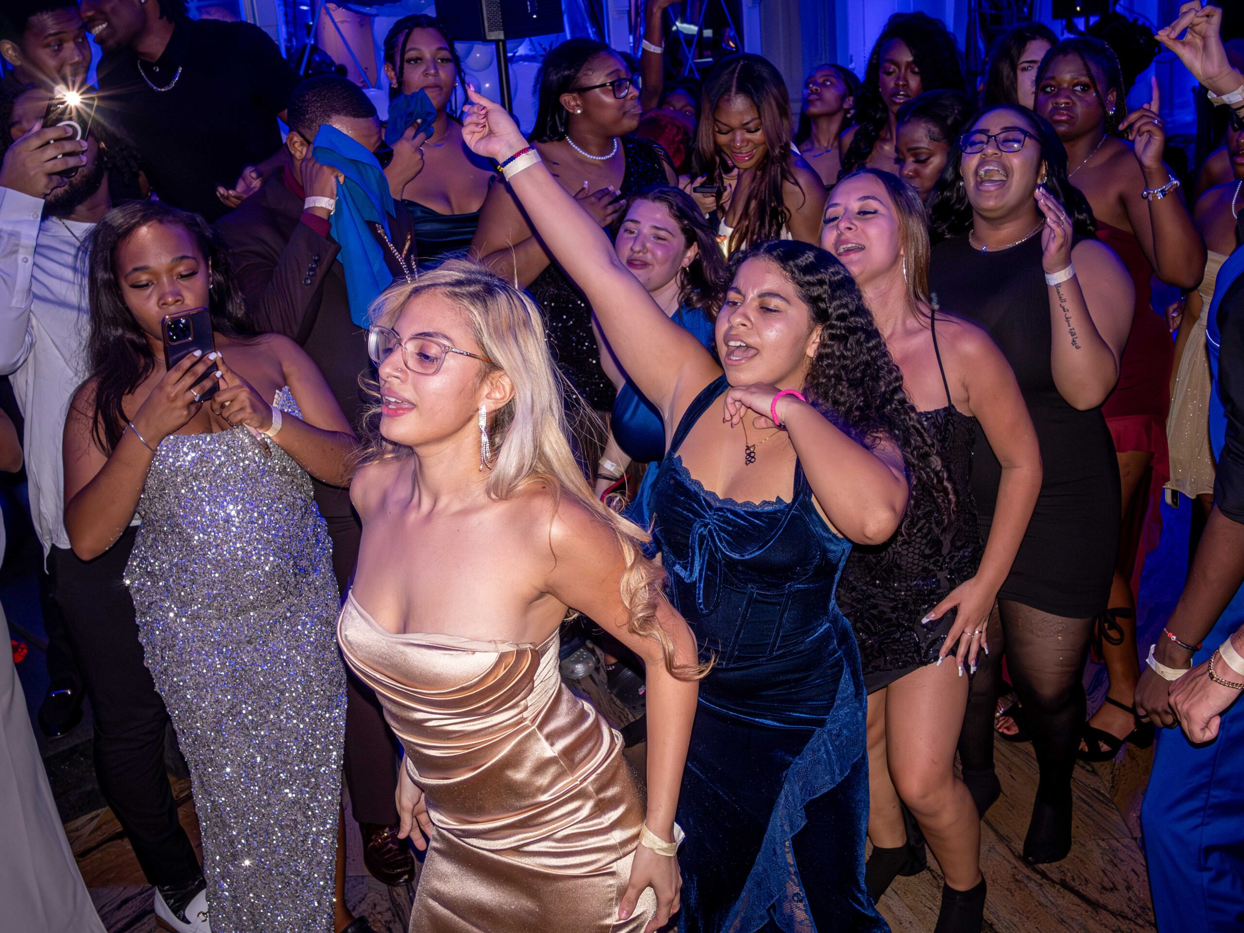
[[[1044,188],[1037,189],[1036,203],[1045,214],[1041,265],[1046,275],[1065,274],[1072,259],[1077,264],[1076,275],[1046,286],[1054,384],[1072,408],[1096,408],[1118,382],[1136,290],[1110,248],[1092,240],[1071,246],[1071,218]]]

